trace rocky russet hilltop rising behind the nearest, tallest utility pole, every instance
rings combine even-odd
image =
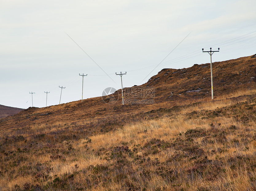
[[[251,87],[255,79],[255,55],[212,63],[214,95],[229,94],[237,89]],[[211,95],[210,63],[194,64],[183,69],[163,69],[151,77],[144,86],[157,87],[157,98],[166,99],[170,91],[184,97]],[[253,86],[253,85],[252,85]],[[196,93],[188,91],[196,91]],[[193,93],[193,94],[191,94]]]

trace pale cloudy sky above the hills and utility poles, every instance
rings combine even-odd
[[[0,0],[0,104],[45,107],[256,54],[255,0]],[[214,71],[213,71],[214,73]],[[214,75],[214,74],[213,74]],[[62,89],[61,100],[60,93]],[[48,94],[44,92],[50,92]]]

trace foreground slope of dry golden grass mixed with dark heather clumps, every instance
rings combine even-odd
[[[0,189],[256,189],[256,92],[233,95],[152,110],[144,120],[79,138],[67,127],[93,119],[11,129],[13,137],[1,139]]]

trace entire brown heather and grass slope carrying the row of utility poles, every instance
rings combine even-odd
[[[91,98],[0,119],[0,190],[256,190],[256,58],[213,64],[214,101],[208,65],[153,76],[140,87],[155,104]]]

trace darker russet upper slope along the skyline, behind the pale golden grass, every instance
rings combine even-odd
[[[255,88],[255,68],[256,58],[254,56],[213,63],[214,96]],[[161,107],[182,105],[190,101],[208,100],[211,99],[210,64],[195,64],[183,69],[163,69],[151,77],[147,83],[135,88],[137,90],[142,88],[143,91],[145,87],[154,88],[154,97],[139,99],[153,100],[154,104],[126,104],[122,107],[122,93],[118,90],[115,94],[119,94],[119,99],[114,104],[106,104],[103,102],[105,99],[95,97],[86,99],[83,103],[74,101],[46,108],[29,108],[19,115],[0,120],[0,126],[30,127],[32,124],[45,124],[48,121],[51,121],[51,124],[60,122],[70,124],[72,121],[74,124],[84,119],[94,120],[104,117],[107,117],[107,120],[116,121],[115,123],[124,124],[126,117],[131,114],[136,115]],[[132,88],[124,88],[124,98],[128,97],[130,91],[133,92]],[[98,121],[95,121],[95,124],[97,123]],[[105,125],[104,129],[110,126]]]

